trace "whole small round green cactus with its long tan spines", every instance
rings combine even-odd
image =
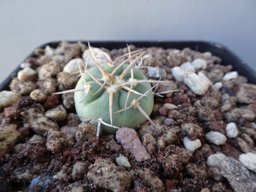
[[[90,43],[88,46],[91,50]],[[84,71],[78,63],[81,78],[76,88],[68,92],[75,92],[76,113],[82,121],[98,124],[98,132],[101,128],[104,134],[115,134],[119,127],[136,128],[147,119],[154,124],[149,118],[154,105],[152,89],[164,81],[148,80],[135,67],[145,53],[129,50],[128,54],[115,61],[106,55],[108,62],[100,64],[91,51],[90,57],[94,59],[96,66],[87,69],[89,57],[85,65],[82,63]],[[124,62],[117,63],[118,59],[127,56],[128,59]],[[126,64],[127,62],[130,64]],[[151,83],[155,85],[151,87]]]

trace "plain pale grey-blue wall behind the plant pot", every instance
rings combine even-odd
[[[256,70],[255,0],[0,0],[0,82],[56,40],[206,40]]]

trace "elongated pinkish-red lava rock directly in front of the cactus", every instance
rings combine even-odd
[[[116,140],[121,143],[125,150],[131,152],[135,160],[142,162],[144,160],[150,160],[151,156],[148,154],[146,148],[141,144],[140,139],[137,136],[137,132],[134,129],[123,127],[116,132]]]

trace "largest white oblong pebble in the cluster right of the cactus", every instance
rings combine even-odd
[[[195,73],[185,73],[183,82],[197,95],[204,95],[209,88],[209,84]]]

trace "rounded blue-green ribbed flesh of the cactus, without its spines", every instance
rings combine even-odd
[[[102,64],[102,67],[110,74],[118,65],[119,64],[116,64],[115,67],[110,67],[108,64]],[[121,68],[119,68],[116,71],[114,77],[119,76],[127,67],[128,65],[125,64]],[[90,68],[89,72],[98,81],[100,81],[100,83],[103,83],[102,74],[97,66]],[[147,77],[137,68],[133,68],[133,74],[134,74],[134,79],[136,79],[137,81],[148,80]],[[123,82],[129,81],[130,78],[131,78],[131,71],[129,71],[124,76]],[[110,112],[109,112],[109,92],[105,88],[103,88],[96,95],[92,96],[92,94],[94,94],[100,89],[100,85],[97,84],[88,73],[84,74],[84,79],[86,80],[86,83],[88,85],[91,85],[92,88],[89,91],[84,101],[82,101],[84,97],[83,91],[78,91],[74,93],[74,100],[75,100],[77,115],[87,117],[87,118],[92,118],[92,119],[101,118],[103,119],[104,122],[111,124]],[[111,84],[107,84],[107,85],[109,87],[112,86]],[[113,86],[115,85],[117,85],[117,83],[114,84]],[[130,87],[130,85],[126,85],[126,86]],[[83,82],[83,79],[80,78],[76,85],[76,89],[80,89],[83,87],[84,87],[84,82]],[[132,89],[144,94],[149,89],[151,89],[151,84],[138,83],[136,84],[136,86],[133,86]],[[128,94],[128,91],[121,87],[119,87],[116,90],[116,92],[114,92],[113,102],[112,102],[113,113],[125,108],[125,101],[127,98],[127,94]],[[129,106],[134,99],[138,99],[139,97],[140,95],[131,92],[131,95],[127,102],[127,106]],[[152,91],[148,92],[147,96],[143,97],[139,101],[139,105],[149,116],[152,112],[153,105],[154,105],[153,92]],[[138,125],[144,123],[146,120],[147,118],[139,111],[139,109],[133,108],[133,107],[128,110],[113,114],[112,116],[112,124],[117,127],[136,128]],[[81,118],[81,121],[85,121],[85,119]],[[92,123],[95,125],[98,124],[98,122],[92,122]],[[100,128],[102,129],[104,134],[115,134],[117,131],[116,128],[109,127],[104,124],[101,124]]]

